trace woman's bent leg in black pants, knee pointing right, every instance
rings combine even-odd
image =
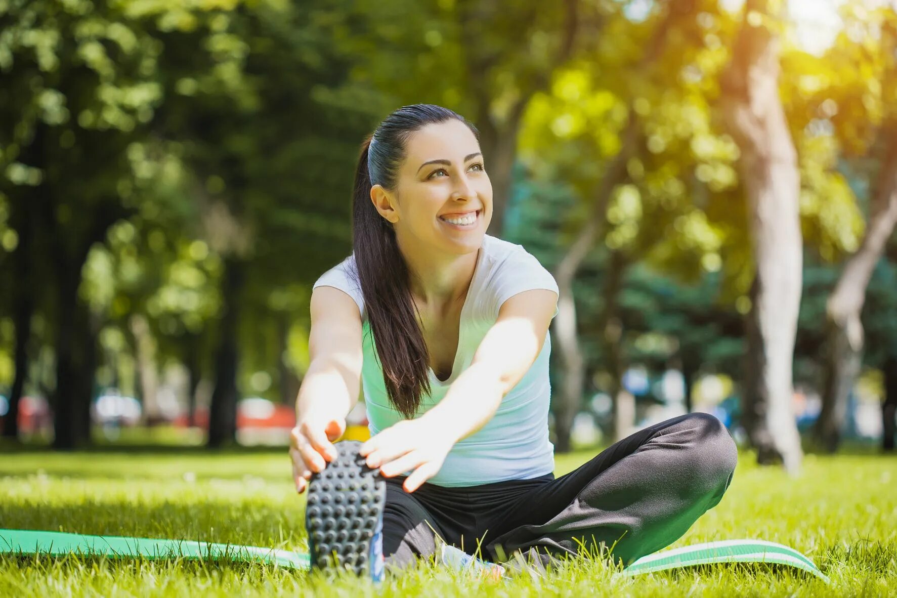
[[[681,537],[714,507],[732,480],[736,446],[722,423],[690,413],[617,442],[526,500],[495,513],[486,552],[504,561],[515,551],[576,554],[579,542],[613,547],[629,564]]]

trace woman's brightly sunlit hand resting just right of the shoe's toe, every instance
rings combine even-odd
[[[361,445],[359,452],[367,457],[368,467],[379,467],[388,478],[414,470],[402,485],[406,492],[414,492],[440,471],[455,442],[457,438],[444,427],[435,426],[424,417],[402,420],[380,431]]]

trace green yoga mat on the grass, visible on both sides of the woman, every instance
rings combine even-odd
[[[123,536],[91,536],[80,533],[0,530],[0,554],[47,554],[64,556],[70,553],[112,558],[143,557],[144,559],[233,559],[258,561],[292,569],[308,569],[305,552],[239,546],[192,540],[153,540]],[[811,573],[828,583],[813,564],[797,550],[762,540],[727,540],[694,544],[674,550],[655,552],[636,560],[623,569],[623,575],[635,576],[666,569],[710,565],[713,563],[772,563],[788,565]]]

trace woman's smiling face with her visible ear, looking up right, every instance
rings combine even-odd
[[[476,251],[492,220],[492,182],[474,133],[453,118],[415,131],[405,149],[395,191],[375,185],[370,192],[399,243],[452,254]]]

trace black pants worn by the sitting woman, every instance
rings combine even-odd
[[[690,413],[641,429],[556,480],[424,483],[409,494],[403,478],[392,478],[383,515],[387,566],[431,556],[435,533],[493,562],[520,550],[550,566],[585,546],[613,547],[614,560],[629,564],[675,542],[714,507],[735,466],[736,446],[722,423]]]

